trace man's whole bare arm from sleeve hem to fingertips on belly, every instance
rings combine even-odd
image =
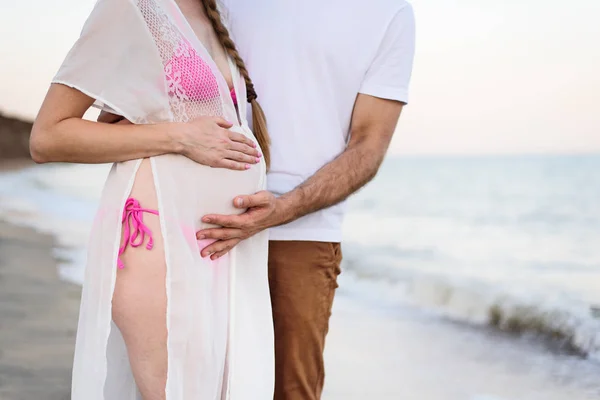
[[[236,197],[234,206],[247,208],[245,213],[205,216],[202,221],[221,228],[205,229],[196,235],[198,240],[216,240],[202,250],[202,257],[212,255],[215,260],[257,232],[330,207],[356,192],[377,173],[402,107],[397,101],[359,94],[346,150],[280,197],[269,192]]]

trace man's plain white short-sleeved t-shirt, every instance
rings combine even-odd
[[[346,147],[358,93],[408,101],[414,15],[404,0],[224,0],[272,139],[268,189],[286,193]],[[344,204],[271,229],[342,239]]]

